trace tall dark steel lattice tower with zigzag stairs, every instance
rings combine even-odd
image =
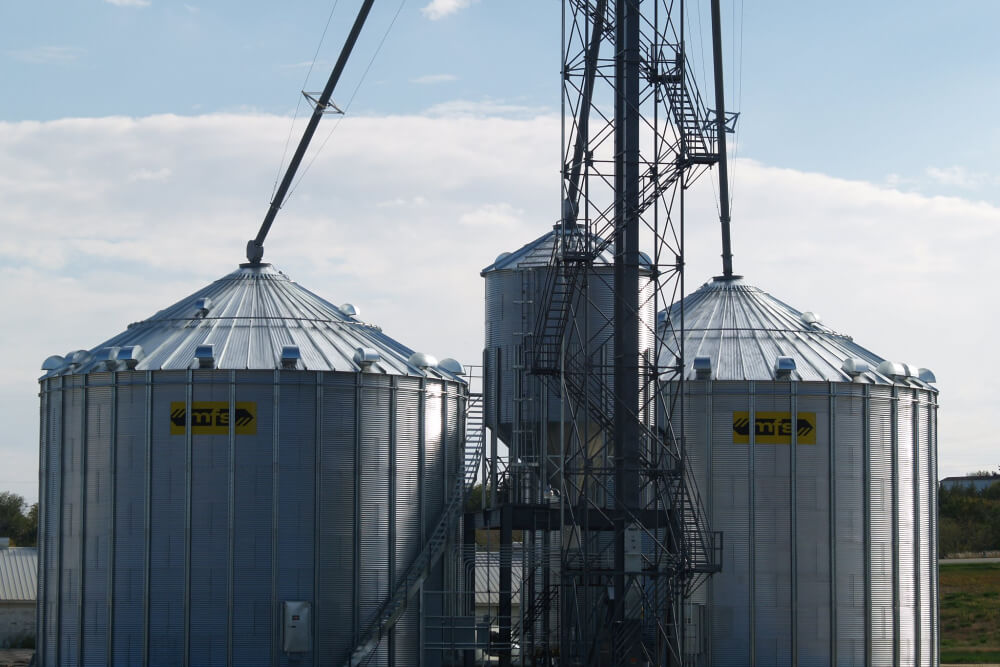
[[[515,401],[528,407],[515,421],[530,417],[493,477],[503,503],[480,522],[501,534],[500,645],[526,664],[690,664],[684,600],[721,565],[686,465],[684,360],[661,358],[682,349],[683,315],[656,316],[683,295],[684,192],[719,161],[724,127],[688,73],[683,12],[682,0],[564,2],[559,243],[525,272]],[[519,583],[509,556],[504,578],[513,530],[525,531]]]

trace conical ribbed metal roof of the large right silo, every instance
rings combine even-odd
[[[662,326],[680,328],[681,304],[687,378],[698,377],[694,364],[701,358],[706,370],[710,365],[708,373],[714,380],[775,380],[780,357],[794,361],[785,379],[904,383],[932,389],[920,379],[933,381],[926,369],[886,363],[851,336],[824,325],[816,314],[797,310],[742,278],[705,283],[675,303],[668,316],[661,313]],[[673,336],[664,338],[667,360],[676,344]],[[853,361],[845,367],[847,360]]]

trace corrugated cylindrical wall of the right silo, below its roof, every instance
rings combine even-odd
[[[704,663],[937,665],[936,395],[815,382],[686,392],[690,465],[725,540],[722,572],[691,600],[709,608]],[[736,444],[736,412],[814,413],[815,444]]]

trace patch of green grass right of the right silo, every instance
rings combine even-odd
[[[1000,563],[940,566],[941,662],[1000,663]]]

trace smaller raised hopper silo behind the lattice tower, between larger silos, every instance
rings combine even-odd
[[[595,251],[598,247],[603,249]],[[543,480],[554,474],[551,465],[546,464],[545,453],[556,455],[560,423],[573,419],[573,415],[561,403],[555,384],[541,377],[554,374],[561,360],[558,348],[539,349],[542,346],[537,341],[544,335],[545,323],[537,318],[539,312],[545,312],[541,306],[546,299],[571,298],[568,295],[572,289],[560,273],[559,262],[574,252],[595,255],[591,268],[574,278],[587,281],[585,290],[576,286],[577,293],[585,296],[575,297],[572,304],[548,305],[554,310],[562,309],[563,316],[572,320],[565,325],[572,332],[567,336],[570,341],[565,350],[565,357],[570,360],[567,363],[588,364],[591,401],[608,406],[606,409],[610,411],[614,387],[613,246],[585,233],[581,227],[569,226],[564,231],[562,225],[556,225],[521,248],[500,254],[481,272],[486,282],[486,424],[510,447],[515,466],[519,462],[531,468],[541,466]],[[650,278],[649,258],[641,255],[641,262],[639,353],[649,358],[654,338],[654,283]],[[543,356],[548,358],[539,359]],[[550,367],[538,368],[546,364]],[[524,369],[530,372],[522,372]],[[604,437],[595,423],[580,427],[580,432],[584,431],[591,439]],[[562,437],[569,437],[568,429]],[[520,492],[523,500],[537,501],[546,489]]]

